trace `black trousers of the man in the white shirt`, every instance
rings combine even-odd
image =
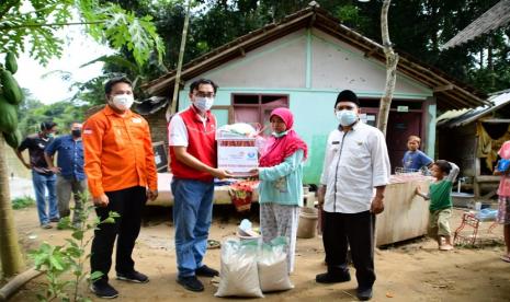
[[[349,272],[348,247],[350,247],[359,287],[372,287],[375,282],[375,216],[370,211],[360,213],[324,211],[322,213],[322,242],[328,272],[333,275]]]

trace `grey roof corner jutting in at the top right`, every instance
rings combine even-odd
[[[446,42],[441,48],[455,47],[479,35],[505,26],[508,23],[510,23],[510,0],[501,0]]]

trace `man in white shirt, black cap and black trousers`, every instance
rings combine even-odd
[[[350,246],[358,299],[369,300],[375,281],[375,214],[384,210],[384,190],[389,183],[388,152],[384,135],[360,120],[360,102],[352,91],[340,92],[335,114],[340,125],[328,138],[319,188],[328,271],[317,275],[316,281],[351,280]]]

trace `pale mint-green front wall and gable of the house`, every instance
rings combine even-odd
[[[378,100],[385,86],[384,63],[365,58],[354,49],[317,30],[302,30],[264,45],[245,57],[212,69],[197,78],[214,80],[219,90],[213,112],[219,125],[229,123],[231,95],[285,94],[295,115],[295,130],[309,147],[305,183],[318,183],[322,170],[325,142],[338,121],[333,104],[338,92],[351,89],[360,98]],[[190,105],[188,81],[180,92],[179,109]],[[432,91],[397,73],[394,100],[426,102],[423,109],[435,115]],[[219,107],[218,107],[219,106]],[[435,118],[426,118],[428,137],[434,138]],[[434,143],[426,137],[427,153],[433,156]]]

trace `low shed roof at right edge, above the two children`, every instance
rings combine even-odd
[[[438,127],[455,128],[468,125],[506,105],[510,104],[510,89],[492,93],[489,97],[494,105],[474,109],[449,111],[438,117]]]

